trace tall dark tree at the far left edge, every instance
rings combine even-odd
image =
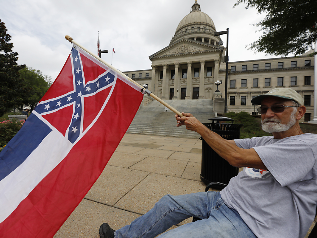
[[[0,116],[7,109],[20,105],[26,95],[23,80],[19,77],[20,69],[25,65],[18,65],[18,53],[12,52],[13,43],[9,43],[11,36],[0,20]]]

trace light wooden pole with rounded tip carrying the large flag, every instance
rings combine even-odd
[[[77,42],[74,41],[74,39],[70,36],[65,36],[66,40],[68,40],[70,43],[74,43],[75,45],[77,45],[78,47],[80,47],[81,49],[85,50],[88,54],[94,56],[97,60],[99,60],[101,63],[104,63],[108,68],[116,71],[118,74],[120,74],[121,76],[125,77],[126,79],[130,80],[132,83],[134,83],[135,85],[139,86],[140,89],[143,89],[143,87],[135,82],[134,80],[132,80],[131,78],[129,78],[128,76],[126,76],[124,73],[122,73],[120,70],[114,68],[112,65],[108,64],[106,61],[104,61],[103,59],[101,59],[100,57],[98,57],[97,55],[95,55],[94,53],[92,53],[90,50],[87,50],[85,47],[81,46],[80,44],[78,44]],[[164,102],[162,99],[160,99],[158,96],[155,96],[151,91],[146,90],[146,93],[148,95],[150,95],[152,98],[154,98],[155,100],[157,100],[158,102],[162,103],[165,107],[167,107],[168,109],[170,109],[172,112],[174,112],[175,114],[177,114],[180,117],[184,117],[178,110],[176,110],[175,108],[171,107],[170,105],[168,105],[166,102]]]

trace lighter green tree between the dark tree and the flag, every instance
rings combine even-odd
[[[43,75],[40,70],[26,67],[20,70],[20,78],[23,79],[25,89],[28,91],[23,104],[29,105],[32,111],[51,86],[51,77]]]

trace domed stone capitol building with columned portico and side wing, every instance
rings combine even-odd
[[[301,121],[314,116],[313,51],[297,57],[279,57],[228,63],[228,87],[225,93],[226,43],[212,19],[196,2],[178,24],[170,44],[149,56],[152,69],[123,72],[163,100],[212,99],[223,103],[227,111],[257,114],[251,99],[276,87],[296,90],[307,108]],[[216,36],[215,36],[216,35]],[[218,86],[215,82],[220,81]],[[217,92],[216,92],[217,91]],[[221,113],[221,111],[218,111]]]

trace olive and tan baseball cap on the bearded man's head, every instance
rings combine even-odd
[[[298,102],[301,105],[304,105],[303,97],[293,89],[290,88],[276,88],[270,90],[268,93],[256,96],[252,98],[251,102],[256,105],[261,105],[261,102],[266,97],[281,97],[285,99],[290,99]]]

